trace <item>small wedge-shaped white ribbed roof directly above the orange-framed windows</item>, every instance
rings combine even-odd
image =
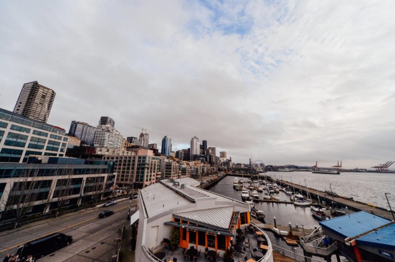
[[[189,220],[211,225],[218,228],[228,229],[232,219],[234,207],[220,207],[194,210],[189,212],[175,213],[174,215]]]

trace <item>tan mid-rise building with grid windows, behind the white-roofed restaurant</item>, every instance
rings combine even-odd
[[[120,150],[119,154],[104,155],[103,159],[114,161],[119,187],[144,188],[154,184],[160,174],[160,158],[149,149]]]

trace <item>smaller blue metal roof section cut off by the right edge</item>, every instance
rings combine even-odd
[[[358,237],[356,244],[395,250],[395,224]]]

